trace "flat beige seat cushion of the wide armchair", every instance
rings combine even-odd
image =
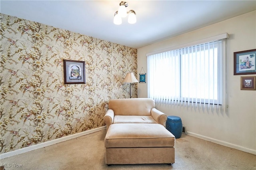
[[[122,116],[114,117],[115,123],[157,123],[152,116]]]

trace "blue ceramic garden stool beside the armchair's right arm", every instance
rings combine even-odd
[[[180,138],[182,134],[182,121],[178,116],[168,116],[166,129],[169,130],[175,138]]]

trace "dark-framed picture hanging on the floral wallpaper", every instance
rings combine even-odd
[[[85,83],[85,62],[63,59],[64,83],[84,84]]]

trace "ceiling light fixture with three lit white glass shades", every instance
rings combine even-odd
[[[126,10],[128,3],[122,1],[122,2],[120,2],[119,5],[120,5],[120,7],[119,7],[118,11],[116,11],[114,14],[114,24],[116,24],[116,25],[122,24],[122,18],[126,17],[127,14],[129,14],[128,23],[129,24],[136,23],[136,12],[134,10],[130,10],[129,12],[127,12],[127,10]]]

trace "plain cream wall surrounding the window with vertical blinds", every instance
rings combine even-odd
[[[228,110],[224,113],[195,111],[156,105],[166,115],[181,117],[188,134],[256,154],[256,91],[240,90],[241,76],[234,75],[234,52],[256,48],[256,11],[138,49],[138,71],[147,71],[146,53],[228,33]],[[138,72],[139,73],[139,72]],[[147,83],[138,83],[138,97],[148,97]]]

